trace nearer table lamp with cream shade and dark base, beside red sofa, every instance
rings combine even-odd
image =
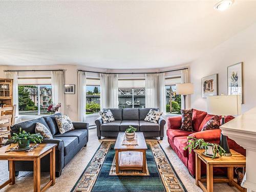
[[[240,95],[219,95],[207,97],[207,113],[212,115],[221,115],[222,124],[225,123],[226,115],[241,114],[241,96]],[[225,150],[225,156],[231,156],[227,137],[221,134],[220,145]]]

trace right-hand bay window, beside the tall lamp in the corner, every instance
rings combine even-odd
[[[181,114],[181,95],[176,95],[176,86],[165,86],[166,113]]]

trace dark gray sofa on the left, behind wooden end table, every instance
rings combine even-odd
[[[44,116],[38,119],[33,119],[11,126],[11,134],[17,133],[19,128],[29,133],[35,133],[36,122],[44,124],[52,133],[53,139],[44,139],[42,143],[56,143],[56,177],[61,175],[61,170],[65,167],[71,159],[81,150],[83,146],[87,145],[89,137],[89,124],[84,122],[73,122],[75,130],[60,134],[58,125],[55,121],[55,115],[60,113]],[[49,172],[50,156],[46,155],[41,159],[41,171]],[[33,171],[33,162],[31,161],[16,161],[15,162],[16,175],[19,171]]]

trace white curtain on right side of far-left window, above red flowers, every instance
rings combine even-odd
[[[64,77],[63,71],[51,71],[52,80],[52,101],[55,104],[61,103],[61,108],[58,112],[64,114]]]

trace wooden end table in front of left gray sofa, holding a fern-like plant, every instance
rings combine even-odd
[[[11,146],[15,146],[12,144]],[[50,185],[55,184],[55,147],[57,144],[39,144],[38,147],[30,152],[7,152],[9,146],[0,148],[0,160],[9,161],[9,180],[0,185],[0,189],[6,185],[15,184],[15,161],[34,162],[34,192],[45,191]],[[50,154],[50,181],[42,189],[40,188],[40,159]]]

